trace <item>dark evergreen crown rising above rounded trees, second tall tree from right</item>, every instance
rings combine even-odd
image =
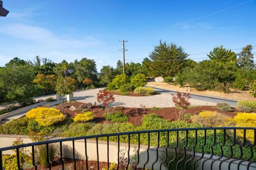
[[[207,56],[215,61],[236,61],[236,53],[224,48],[223,45],[214,47]]]

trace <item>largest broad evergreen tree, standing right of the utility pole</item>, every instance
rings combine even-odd
[[[167,44],[160,40],[159,44],[149,54],[147,68],[151,76],[175,76],[177,72],[182,70],[186,63],[188,54],[181,46],[173,43]]]

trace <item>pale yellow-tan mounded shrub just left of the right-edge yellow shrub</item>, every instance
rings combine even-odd
[[[233,124],[232,118],[209,110],[199,112],[198,115],[192,117],[192,121],[205,127],[231,126]]]

